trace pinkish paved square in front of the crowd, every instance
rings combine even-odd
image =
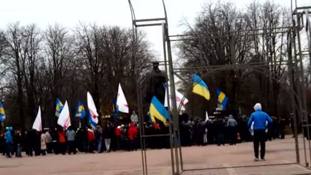
[[[304,163],[302,138],[299,138],[300,160]],[[308,141],[306,141],[307,161],[310,162]],[[184,169],[199,168],[200,170],[184,171],[182,174],[311,174],[308,170],[295,163],[294,139],[287,136],[285,140],[273,140],[266,143],[266,161],[253,162],[253,144],[241,143],[226,146],[192,146],[183,147],[182,156]],[[148,174],[171,174],[169,149],[147,150]],[[270,164],[282,164],[265,166]],[[252,166],[262,165],[262,166]],[[236,166],[251,166],[239,167]],[[209,169],[204,168],[220,168]],[[233,167],[233,168],[229,168]],[[110,174],[142,174],[141,151],[110,152],[104,154],[47,155],[6,159],[0,157],[0,174],[72,174],[72,175],[110,175]]]

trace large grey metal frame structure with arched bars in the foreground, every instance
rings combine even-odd
[[[132,0],[135,1],[135,0]],[[287,66],[288,69],[288,78],[290,79],[290,90],[286,90],[288,94],[290,94],[291,102],[292,102],[292,110],[293,110],[293,118],[294,118],[294,135],[295,137],[295,150],[296,150],[296,163],[286,163],[286,164],[299,164],[304,167],[308,167],[309,163],[307,161],[307,149],[306,149],[306,141],[303,137],[303,153],[304,153],[304,164],[300,161],[299,154],[299,144],[298,144],[298,123],[297,119],[300,119],[302,123],[302,132],[303,135],[304,130],[306,130],[307,137],[310,136],[309,121],[307,117],[307,105],[306,105],[306,97],[305,97],[305,82],[303,78],[303,56],[309,56],[310,64],[311,64],[311,7],[297,7],[297,2],[295,1],[295,9],[293,10],[293,0],[292,3],[292,21],[293,25],[289,27],[279,27],[273,28],[275,30],[280,29],[281,31],[274,31],[273,33],[287,33],[287,57],[286,61],[281,62],[256,62],[256,63],[247,63],[247,64],[226,64],[226,65],[215,65],[215,66],[203,66],[203,67],[187,67],[187,68],[173,68],[172,61],[172,53],[171,53],[171,41],[182,41],[182,40],[191,40],[193,39],[193,35],[169,35],[168,32],[168,19],[167,12],[164,0],[162,0],[163,9],[164,9],[164,17],[162,18],[146,18],[146,19],[136,19],[135,11],[132,6],[131,0],[128,0],[128,4],[131,11],[132,18],[132,30],[133,37],[135,42],[138,42],[137,38],[137,30],[139,27],[152,27],[152,26],[162,26],[162,36],[163,36],[163,53],[164,53],[164,61],[160,61],[161,65],[164,65],[166,74],[169,75],[169,86],[170,86],[170,94],[171,98],[175,99],[175,85],[174,85],[174,76],[179,77],[182,81],[185,79],[179,74],[181,72],[193,72],[193,70],[203,69],[207,73],[201,75],[201,77],[205,77],[207,75],[211,75],[220,71],[225,70],[246,70],[252,69],[255,72],[261,74],[267,74],[270,72],[266,72],[264,69],[271,65],[284,65]],[[305,22],[304,22],[305,18]],[[301,39],[300,32],[302,29],[306,30],[307,40],[308,40],[308,49],[301,49]],[[266,29],[257,29],[257,30],[245,30],[245,31],[229,31],[229,32],[217,32],[215,34],[219,34],[217,37],[230,37],[234,36],[236,32],[242,33],[238,36],[248,36],[249,32],[256,31],[256,35],[268,34],[265,32]],[[195,35],[200,35],[196,33]],[[252,35],[254,35],[252,33]],[[137,45],[136,45],[137,46]],[[297,49],[298,47],[298,49]],[[307,54],[305,54],[307,52]],[[136,49],[134,49],[133,56],[136,54]],[[235,60],[235,56],[233,55],[231,58],[232,61]],[[151,62],[137,62],[136,67],[141,67],[142,64],[148,65]],[[273,74],[270,74],[272,78],[274,78]],[[137,94],[138,94],[138,106],[139,106],[139,114],[143,116],[143,97],[141,92],[141,85],[139,82],[140,74],[137,74]],[[192,83],[192,82],[191,82]],[[192,89],[192,85],[189,86],[188,91]],[[167,96],[169,95],[168,85],[166,87]],[[168,105],[170,105],[169,99]],[[183,101],[184,99],[182,99]],[[182,158],[182,148],[180,145],[180,130],[179,130],[179,110],[181,106],[176,106],[176,101],[172,101],[172,115],[169,115],[169,133],[162,135],[146,135],[144,129],[144,117],[140,117],[140,140],[141,140],[141,154],[142,154],[142,169],[143,174],[148,174],[147,170],[147,155],[146,155],[146,138],[149,137],[169,137],[170,140],[170,157],[171,157],[171,166],[172,166],[172,174],[181,174],[184,171],[191,170],[207,170],[207,169],[219,169],[219,168],[241,168],[241,167],[253,167],[252,166],[237,166],[237,167],[218,167],[218,168],[203,168],[203,169],[184,169],[183,158]],[[296,104],[297,102],[297,104]],[[170,108],[170,106],[168,106]],[[298,116],[297,116],[298,115]],[[304,129],[305,128],[305,129]],[[308,139],[308,153],[311,161],[311,146],[310,140]],[[276,166],[276,165],[286,165],[286,164],[269,164],[269,165],[259,165],[259,166]]]

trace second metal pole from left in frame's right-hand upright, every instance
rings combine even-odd
[[[300,42],[300,17],[297,16],[297,23],[298,23],[298,28],[296,28],[296,33],[297,33],[297,41],[298,41],[298,53],[299,53],[299,62],[300,62],[300,76],[301,76],[301,92],[302,92],[302,103],[303,103],[303,119],[306,120],[307,124],[307,140],[308,140],[308,145],[309,145],[309,157],[311,161],[311,144],[310,144],[310,131],[309,131],[309,119],[308,119],[308,114],[307,114],[307,103],[306,103],[306,92],[305,92],[305,83],[304,83],[304,78],[303,78],[303,63],[302,63],[302,57],[301,57],[301,42]],[[295,38],[295,37],[294,37]],[[297,63],[298,64],[298,63]],[[306,163],[306,166],[309,166],[308,162]]]

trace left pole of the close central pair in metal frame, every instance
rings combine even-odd
[[[165,38],[165,26],[164,23],[162,23],[162,36],[163,36],[163,54],[164,54],[164,64],[165,64],[165,74],[167,75],[167,59],[166,59],[166,38]],[[167,106],[168,110],[170,110],[170,104],[169,104],[169,92],[168,92],[168,84],[166,86],[166,95],[167,95]],[[172,117],[171,115],[168,115],[169,118],[169,144],[170,144],[170,151],[171,151],[171,164],[172,164],[172,174],[175,174],[175,168],[174,168],[174,152],[173,152],[173,138],[172,138]]]

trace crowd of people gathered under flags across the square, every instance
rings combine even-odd
[[[110,152],[116,150],[137,150],[140,148],[140,133],[138,116],[131,116],[132,122],[115,126],[113,123],[105,123],[102,126],[80,127],[74,129],[69,127],[64,130],[43,129],[38,132],[29,128],[22,133],[20,129],[8,127],[6,132],[0,133],[0,151],[2,155],[10,158],[12,155],[21,157],[24,150],[28,156],[39,156],[54,154],[76,154],[80,152]],[[248,127],[249,118],[241,116],[234,119],[229,117],[214,117],[208,121],[189,119],[184,113],[180,116],[180,141],[182,146],[217,144],[234,145],[242,141],[252,141],[252,130]],[[285,120],[273,117],[273,122],[266,130],[266,139],[284,139]],[[161,135],[159,137],[148,137],[145,146],[151,149],[169,148],[169,124],[163,122],[144,123],[145,135]],[[179,143],[178,143],[179,144]]]

